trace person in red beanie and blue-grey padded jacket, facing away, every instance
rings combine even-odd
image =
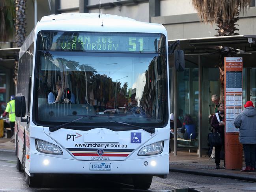
[[[245,109],[235,118],[235,128],[239,129],[239,142],[243,144],[245,168],[241,171],[255,170],[256,148],[256,109],[252,101],[247,101]]]

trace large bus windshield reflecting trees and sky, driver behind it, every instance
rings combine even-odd
[[[120,121],[164,127],[168,122],[163,34],[43,31],[36,49],[37,125],[75,120],[69,126],[120,127]]]

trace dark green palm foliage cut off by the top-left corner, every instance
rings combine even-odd
[[[14,0],[0,0],[0,41],[8,41],[13,37],[14,18]]]

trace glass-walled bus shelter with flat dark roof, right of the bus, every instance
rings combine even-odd
[[[169,40],[171,45],[176,40]],[[180,39],[180,49],[185,54],[185,70],[176,71],[173,56],[169,57],[170,112],[174,113],[174,132],[177,121],[183,123],[185,114],[191,115],[196,125],[196,138],[183,140],[174,134],[170,140],[174,155],[183,149],[197,149],[199,157],[208,148],[207,135],[211,130],[209,115],[215,104],[211,95],[220,95],[220,48],[231,48],[234,57],[243,58],[243,104],[256,101],[256,35],[235,35]],[[222,49],[223,50],[223,49]]]

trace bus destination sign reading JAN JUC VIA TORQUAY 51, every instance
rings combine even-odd
[[[57,32],[54,35],[50,50],[157,53],[159,41],[165,43],[161,34]]]

